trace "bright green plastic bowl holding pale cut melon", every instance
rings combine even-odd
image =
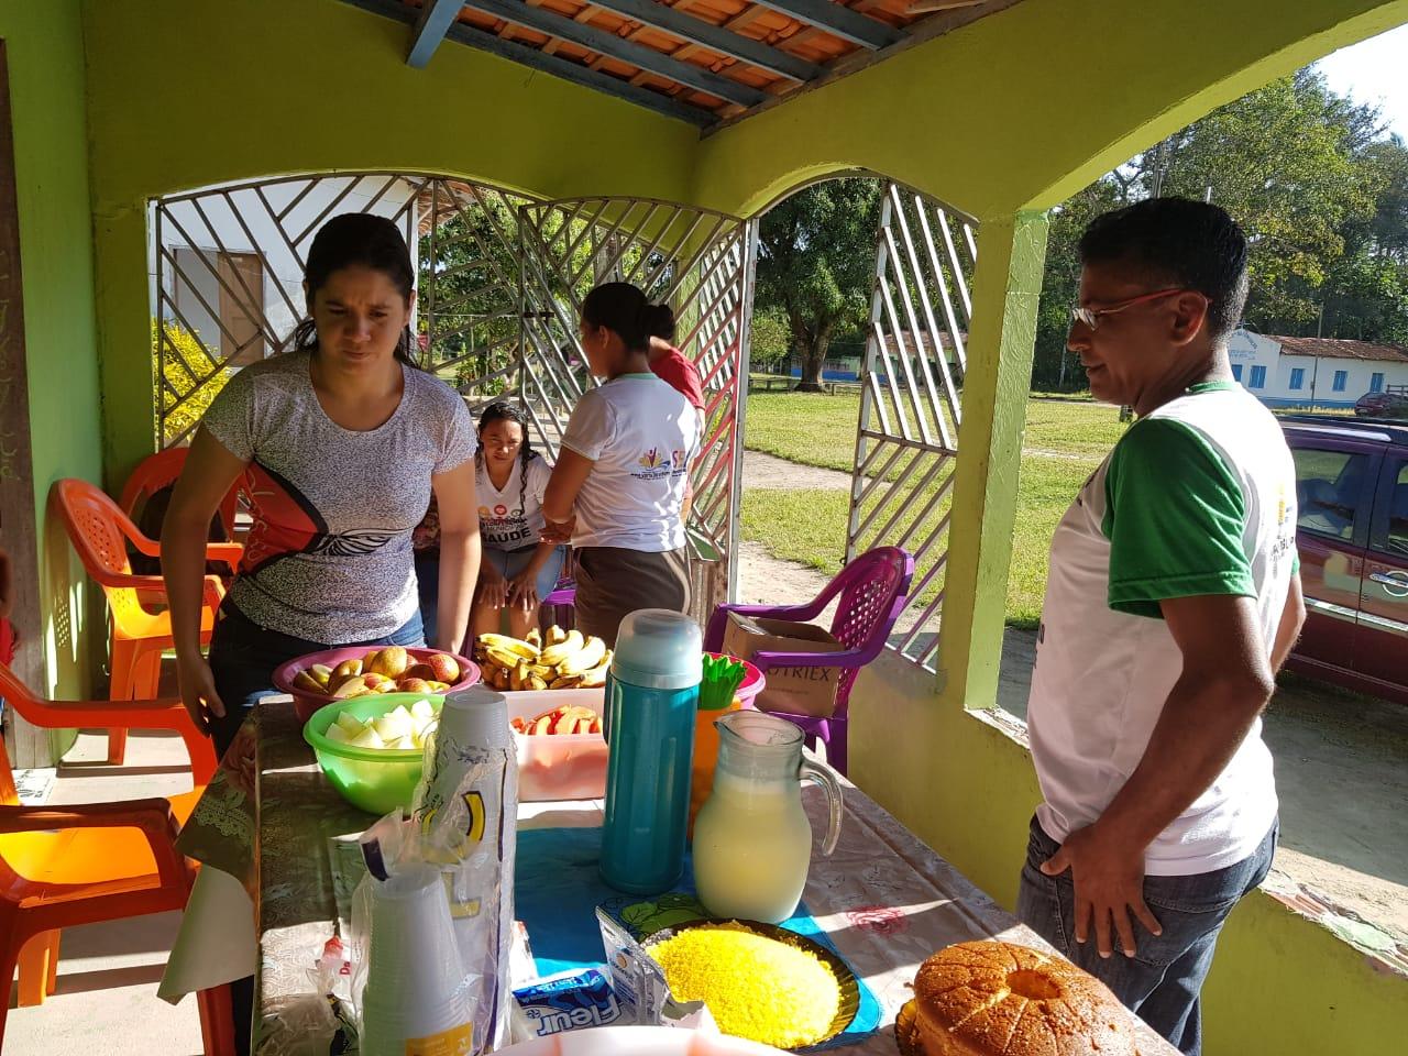
[[[396,711],[398,704],[410,710],[418,700],[428,700],[435,714],[445,703],[444,696],[428,693],[387,693],[380,697],[353,697],[339,700],[313,712],[303,727],[303,739],[313,748],[318,766],[332,781],[342,798],[353,807],[370,814],[390,814],[394,810],[408,811],[415,794],[415,783],[421,780],[425,755],[421,749],[377,749],[353,748],[328,739],[328,727],[344,711],[355,718],[380,718]]]

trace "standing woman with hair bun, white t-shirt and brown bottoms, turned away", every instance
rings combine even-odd
[[[686,482],[700,415],[650,372],[650,334],[673,321],[629,283],[587,294],[582,348],[605,382],[572,413],[542,503],[545,538],[576,551],[577,628],[611,646],[627,614],[690,604]]]

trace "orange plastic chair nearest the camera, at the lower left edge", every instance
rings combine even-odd
[[[197,796],[23,807],[0,741],[0,980],[8,993],[18,970],[21,1007],[54,993],[63,928],[184,908],[194,867],[175,839]],[[201,991],[199,1008],[207,1056],[232,1056],[230,988]]]

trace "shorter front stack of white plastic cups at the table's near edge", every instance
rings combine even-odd
[[[439,869],[411,866],[376,886],[367,946],[362,1055],[404,1056],[414,1039],[472,1050],[469,991]],[[462,1038],[463,1048],[453,1043]]]

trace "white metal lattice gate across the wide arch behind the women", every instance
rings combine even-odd
[[[738,545],[741,398],[746,393],[755,227],[641,199],[534,201],[446,176],[296,176],[210,187],[152,207],[152,348],[161,446],[189,439],[244,365],[284,349],[304,317],[303,263],[318,228],[348,211],[400,224],[418,269],[421,365],[472,407],[505,393],[553,455],[594,384],[577,334],[596,283],[632,282],[679,320],[700,367],[707,422],[693,470],[690,535],[732,596]]]

